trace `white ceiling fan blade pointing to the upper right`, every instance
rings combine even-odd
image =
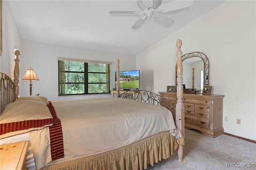
[[[164,8],[164,10],[160,12],[170,12],[170,11],[186,8],[192,5],[193,5],[193,0],[174,0],[172,2],[168,2],[166,4],[160,5],[159,9]]]

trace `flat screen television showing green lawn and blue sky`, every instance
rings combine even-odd
[[[116,80],[115,73],[115,80]],[[116,85],[115,85],[116,87]],[[120,89],[139,89],[140,88],[140,70],[120,71]]]

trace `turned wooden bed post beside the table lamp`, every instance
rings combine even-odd
[[[16,56],[16,58],[14,59],[15,66],[14,66],[14,71],[13,71],[13,75],[14,75],[13,83],[15,85],[15,96],[17,99],[17,98],[19,98],[19,95],[20,95],[20,87],[19,87],[19,83],[20,83],[20,80],[19,80],[19,77],[20,77],[19,55],[20,55],[20,51],[18,49],[15,50],[14,55]]]

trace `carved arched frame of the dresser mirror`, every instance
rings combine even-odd
[[[202,59],[203,63],[204,63],[204,86],[209,86],[209,76],[210,76],[210,63],[209,63],[209,59],[208,57],[201,52],[192,52],[192,53],[186,53],[184,55],[181,56],[181,61],[184,61],[185,59],[188,58],[193,58],[193,57],[199,57],[200,59]],[[177,66],[177,64],[176,64]],[[177,75],[177,71],[176,71],[176,75]],[[177,81],[177,80],[176,80]],[[176,82],[177,84],[177,82]]]

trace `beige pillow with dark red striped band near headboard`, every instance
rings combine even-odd
[[[44,99],[38,99],[24,98],[6,105],[0,115],[0,138],[39,130],[52,125],[53,117],[48,109],[48,102]]]

